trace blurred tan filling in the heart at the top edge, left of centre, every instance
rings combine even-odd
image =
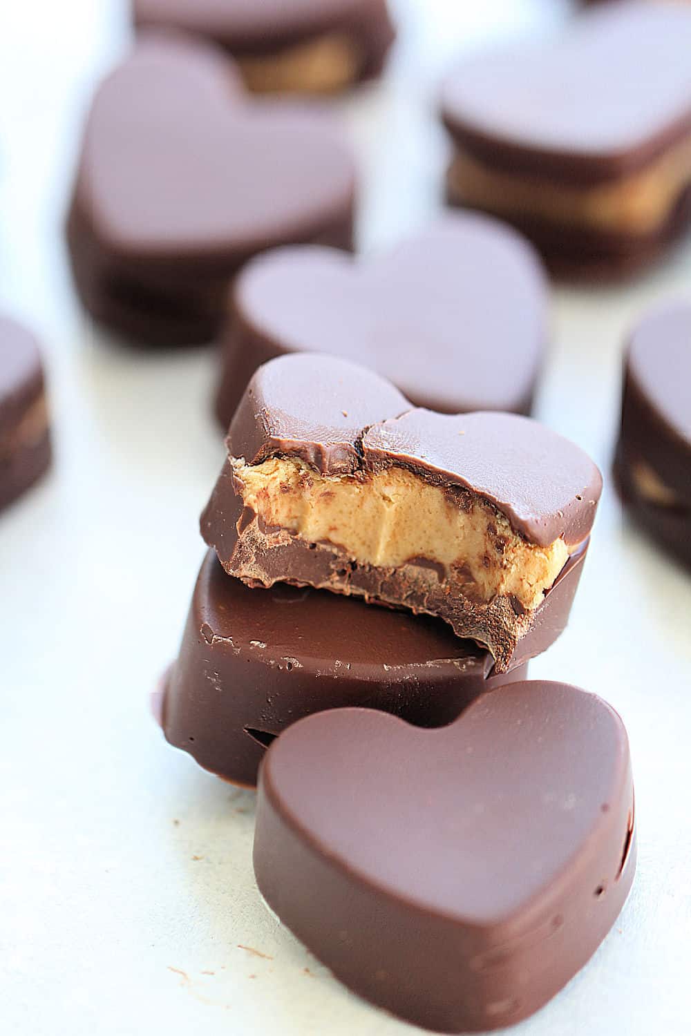
[[[240,71],[256,93],[332,93],[354,83],[362,48],[343,32],[332,32],[273,54],[239,57]]]

